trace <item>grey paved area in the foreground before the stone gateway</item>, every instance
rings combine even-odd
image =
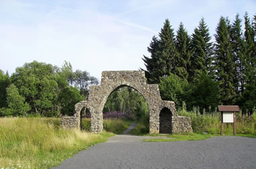
[[[91,146],[56,168],[256,168],[256,139],[142,142],[121,134]]]

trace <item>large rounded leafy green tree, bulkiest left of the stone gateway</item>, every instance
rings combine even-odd
[[[17,67],[11,75],[11,83],[19,90],[19,94],[30,104],[31,111],[46,115],[56,111],[54,102],[58,99],[58,83],[56,70],[50,64],[33,61]]]

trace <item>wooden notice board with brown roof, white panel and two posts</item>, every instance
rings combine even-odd
[[[223,123],[233,124],[233,134],[236,134],[236,112],[240,111],[239,106],[218,106],[218,111],[220,111],[220,135],[223,134]]]

